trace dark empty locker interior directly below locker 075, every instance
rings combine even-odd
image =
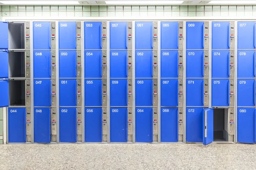
[[[228,141],[228,108],[213,109],[213,141]]]

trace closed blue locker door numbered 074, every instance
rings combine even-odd
[[[230,77],[230,52],[212,51],[212,78]]]

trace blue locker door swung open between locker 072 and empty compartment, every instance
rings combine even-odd
[[[204,109],[203,112],[203,144],[213,142],[213,109]]]

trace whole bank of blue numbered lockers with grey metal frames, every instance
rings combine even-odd
[[[255,24],[0,22],[6,142],[255,143]]]

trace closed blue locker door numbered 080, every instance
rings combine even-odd
[[[237,142],[256,142],[255,122],[255,108],[237,108]]]

